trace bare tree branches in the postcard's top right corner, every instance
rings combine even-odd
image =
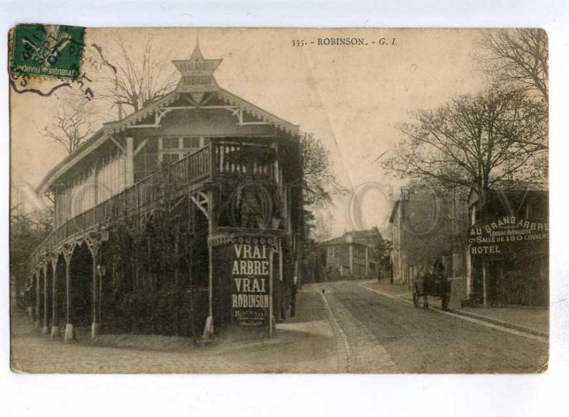
[[[483,31],[487,69],[496,84],[516,91],[537,92],[548,107],[548,38],[543,29],[496,29]]]

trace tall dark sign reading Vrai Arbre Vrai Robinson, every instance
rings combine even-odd
[[[231,327],[236,336],[270,334],[271,250],[269,244],[233,244]]]

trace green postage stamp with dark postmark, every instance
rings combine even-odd
[[[85,28],[25,23],[12,33],[10,71],[75,79],[80,75]]]

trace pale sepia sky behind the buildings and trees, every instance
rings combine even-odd
[[[378,157],[393,150],[400,137],[396,126],[410,121],[410,112],[484,88],[484,73],[473,59],[477,29],[87,28],[85,56],[96,43],[107,59],[117,59],[120,39],[137,57],[151,42],[166,74],[174,71],[171,60],[191,55],[198,33],[204,58],[223,58],[215,73],[220,87],[314,134],[330,150],[341,184],[363,190],[361,216],[350,208],[351,195],[318,211],[332,236],[385,228],[401,183],[383,173]],[[318,45],[330,38],[362,38],[367,45]],[[295,40],[307,45],[295,46]],[[83,69],[97,96],[104,70],[89,63]],[[65,94],[11,92],[13,187],[36,187],[65,157],[63,147],[41,135]],[[96,124],[115,117],[106,102],[95,107],[103,115]]]

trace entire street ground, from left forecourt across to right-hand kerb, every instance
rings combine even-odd
[[[546,367],[543,338],[416,309],[360,284],[304,286],[297,317],[279,324],[272,339],[209,347],[160,337],[168,349],[137,348],[137,340],[156,338],[142,335],[125,335],[134,340],[128,348],[113,347],[105,342],[107,335],[63,342],[41,335],[27,317],[16,314],[12,366],[18,372],[81,373],[494,373]]]

